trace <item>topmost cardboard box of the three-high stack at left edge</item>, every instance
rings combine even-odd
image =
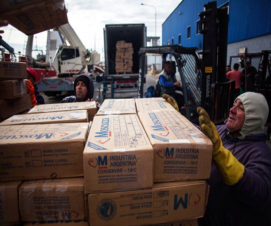
[[[27,79],[26,63],[0,61],[0,80],[11,79]]]

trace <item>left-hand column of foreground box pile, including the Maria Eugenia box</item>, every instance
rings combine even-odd
[[[0,123],[1,225],[65,220],[87,225],[83,150],[89,117],[96,112],[95,102],[39,105],[33,114]]]

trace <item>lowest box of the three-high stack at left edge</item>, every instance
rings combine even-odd
[[[31,97],[29,94],[15,99],[0,100],[0,119],[8,118],[31,107]]]

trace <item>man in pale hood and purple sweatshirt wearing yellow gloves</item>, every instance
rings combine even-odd
[[[164,96],[174,103],[170,96]],[[260,93],[239,95],[225,125],[215,126],[199,107],[199,129],[213,143],[210,194],[202,225],[271,225],[271,150],[266,144],[269,108]]]

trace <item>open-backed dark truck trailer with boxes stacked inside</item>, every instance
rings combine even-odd
[[[129,92],[131,92],[132,87],[137,87],[139,77],[138,53],[141,47],[146,47],[146,34],[147,28],[145,24],[105,25],[104,99],[106,99],[107,94],[111,95],[111,98],[114,98],[114,93],[126,92],[127,87],[129,87]],[[123,67],[120,67],[121,64],[123,64]],[[137,89],[135,89],[136,91]]]

